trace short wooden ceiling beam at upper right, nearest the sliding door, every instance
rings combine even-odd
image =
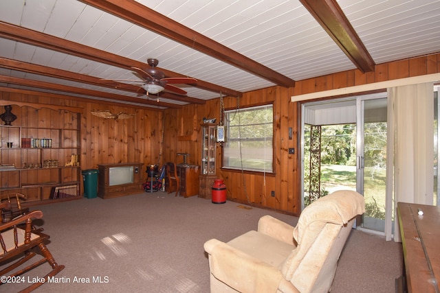
[[[300,0],[363,73],[374,71],[375,62],[336,0]]]

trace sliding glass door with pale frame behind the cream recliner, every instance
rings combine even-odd
[[[363,194],[358,226],[384,232],[386,93],[303,104],[303,207],[338,189]]]

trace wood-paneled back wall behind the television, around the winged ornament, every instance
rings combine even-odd
[[[54,94],[38,94],[34,91],[15,89],[0,90],[1,99],[36,104],[52,104],[82,109],[81,128],[81,169],[97,169],[102,163],[158,163],[162,134],[162,110],[125,107],[119,104],[87,102],[87,99],[72,99]],[[13,102],[11,103],[13,104]],[[12,113],[14,113],[13,106]],[[91,115],[91,110],[110,110],[111,113],[128,113],[131,119],[104,119]],[[39,121],[56,121],[47,117],[45,108],[36,111]],[[3,113],[3,109],[1,110]],[[22,119],[23,121],[23,119]],[[55,122],[54,122],[55,123]],[[54,124],[54,127],[56,127]],[[38,127],[38,126],[37,126]],[[143,178],[146,178],[143,176]]]

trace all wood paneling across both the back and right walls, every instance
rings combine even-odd
[[[339,89],[347,86],[382,82],[440,72],[440,54],[399,60],[377,65],[374,72],[362,73],[357,69],[301,80],[285,89],[274,86],[245,93],[239,106],[274,104],[274,174],[234,172],[222,170],[217,164],[217,176],[225,180],[228,199],[259,207],[277,209],[286,213],[300,213],[300,113],[299,102],[290,102],[292,95]],[[21,102],[56,104],[83,108],[81,115],[80,163],[83,169],[96,168],[98,163],[142,162],[145,165],[163,165],[167,161],[181,163],[177,153],[190,154],[189,163],[200,165],[200,124],[203,117],[219,121],[219,99],[203,105],[188,105],[179,109],[149,110],[133,106],[33,91],[0,89],[1,99]],[[235,97],[224,97],[225,108],[236,108]],[[111,110],[134,114],[133,119],[115,121],[91,115],[90,110]],[[42,112],[43,113],[43,112]],[[42,118],[44,119],[44,118]],[[292,127],[293,139],[288,130]],[[162,143],[163,141],[163,143]],[[288,154],[295,148],[295,154]],[[217,148],[217,161],[221,148]],[[145,176],[146,177],[146,176]],[[271,191],[275,196],[271,196]]]

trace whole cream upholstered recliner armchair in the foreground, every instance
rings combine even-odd
[[[270,215],[228,243],[204,244],[211,292],[329,292],[342,248],[364,197],[336,191],[301,213],[296,227]]]

